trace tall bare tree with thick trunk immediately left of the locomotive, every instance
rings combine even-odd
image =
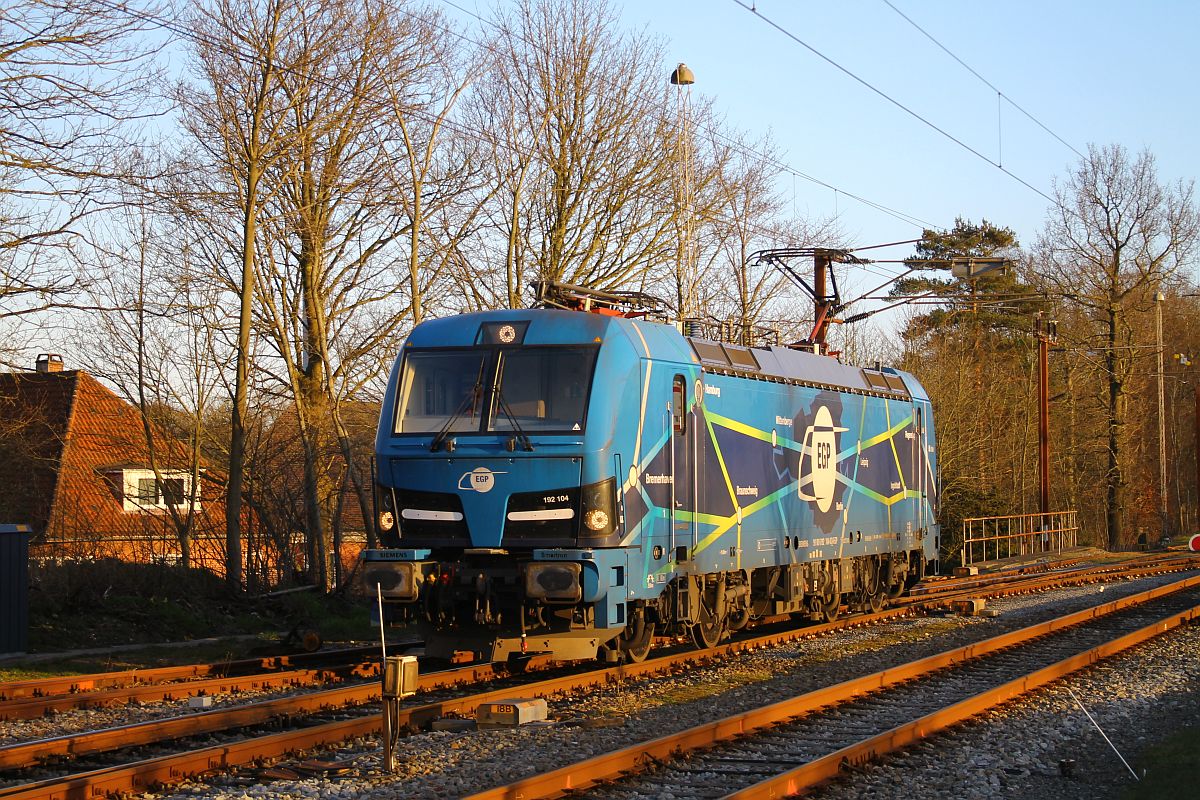
[[[377,377],[378,354],[394,351],[397,331],[421,315],[436,271],[427,215],[446,209],[461,179],[438,160],[438,128],[462,82],[427,11],[356,0],[300,8],[288,42],[295,67],[282,78],[290,144],[266,175],[274,191],[259,315],[304,447],[312,578],[331,587],[342,480],[326,453],[336,441],[370,521],[370,487],[341,404]],[[438,178],[446,184],[431,184]],[[397,266],[408,281],[396,279]]]

